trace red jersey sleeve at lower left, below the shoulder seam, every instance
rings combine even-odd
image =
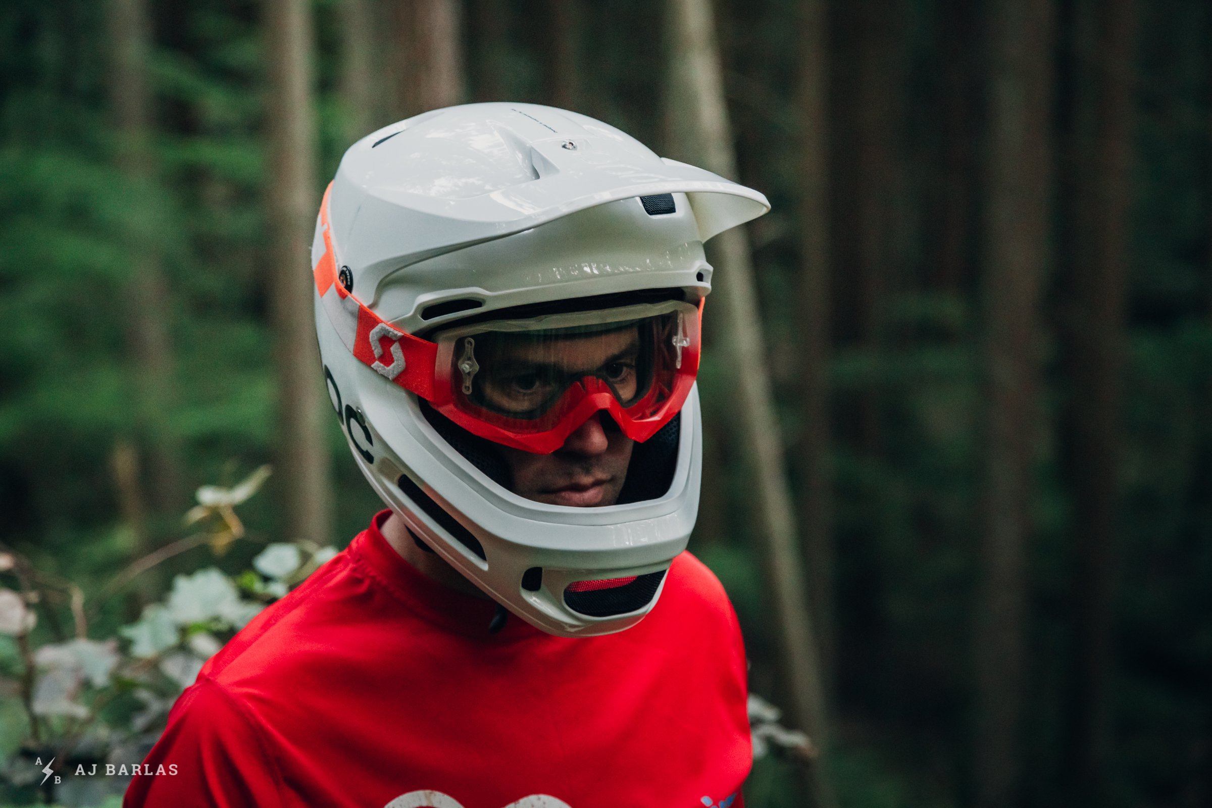
[[[279,778],[255,718],[205,678],[177,699],[122,800],[122,808],[281,804]]]

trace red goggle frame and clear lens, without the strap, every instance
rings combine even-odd
[[[435,380],[448,391],[438,409],[473,432],[549,452],[607,409],[645,440],[693,383],[698,308],[665,300],[497,320],[445,331],[436,343]]]

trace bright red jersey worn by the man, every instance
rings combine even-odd
[[[745,658],[678,556],[652,612],[570,640],[425,578],[375,517],[202,667],[124,808],[739,808]]]

